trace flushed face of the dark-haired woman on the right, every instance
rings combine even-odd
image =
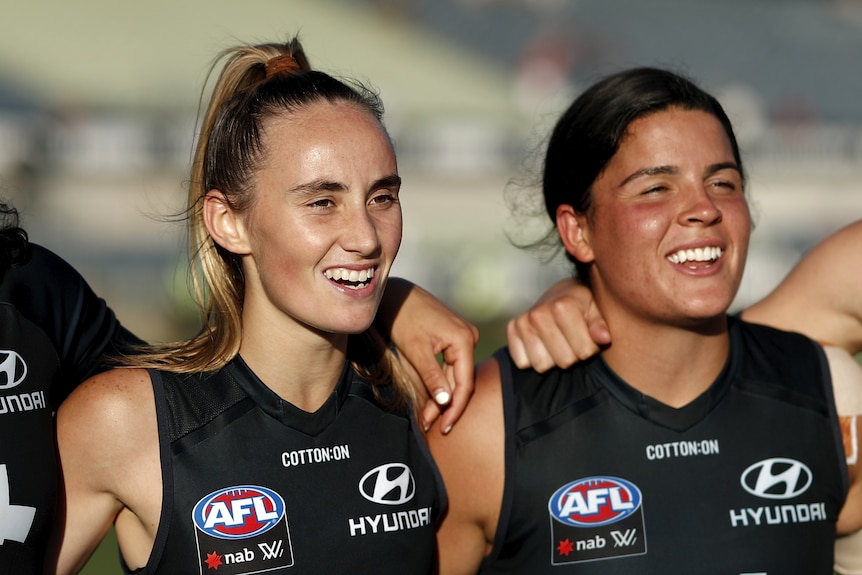
[[[751,218],[721,124],[670,109],[633,122],[593,184],[581,218],[596,300],[609,321],[689,325],[723,316],[739,287]],[[711,266],[673,264],[681,248],[719,246]]]

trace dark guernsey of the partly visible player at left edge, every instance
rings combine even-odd
[[[30,244],[0,273],[0,573],[41,574],[57,500],[54,412],[137,342],[72,266]]]

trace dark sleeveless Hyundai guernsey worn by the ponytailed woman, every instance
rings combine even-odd
[[[164,500],[148,574],[430,573],[445,506],[409,410],[351,369],[315,413],[235,358],[151,371]]]

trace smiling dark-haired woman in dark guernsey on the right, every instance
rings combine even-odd
[[[830,573],[836,529],[862,526],[855,419],[820,346],[727,315],[751,218],[715,98],[609,76],[554,127],[542,192],[613,339],[569,369],[480,366],[429,436],[441,573]]]

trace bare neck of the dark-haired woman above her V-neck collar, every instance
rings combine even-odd
[[[727,361],[726,316],[697,328],[607,319],[613,334],[603,353],[607,364],[629,385],[671,407],[700,396]]]

